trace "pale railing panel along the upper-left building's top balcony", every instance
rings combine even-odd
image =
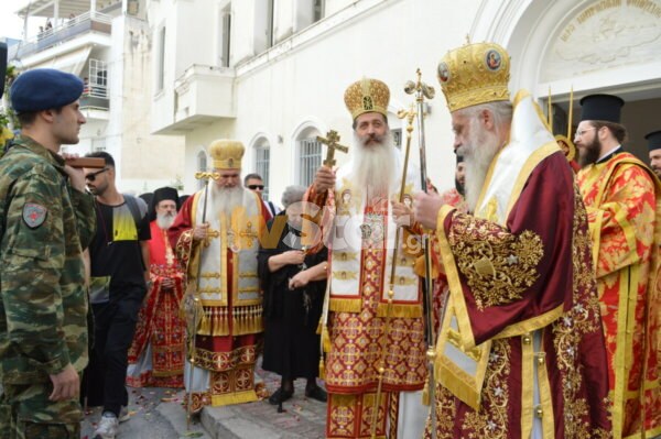
[[[10,47],[9,59],[33,55],[91,31],[110,34],[111,20],[110,15],[100,12],[85,12],[57,28],[41,32],[25,43],[14,44]]]

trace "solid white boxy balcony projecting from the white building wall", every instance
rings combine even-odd
[[[232,68],[192,65],[174,83],[172,130],[193,130],[225,118],[236,118]]]

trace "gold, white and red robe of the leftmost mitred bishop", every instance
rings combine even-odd
[[[253,374],[263,331],[257,253],[268,213],[252,191],[245,190],[242,197],[230,216],[209,197],[206,241],[193,240],[193,228],[203,222],[204,191],[186,200],[169,229],[186,267],[186,295],[198,297],[203,307],[195,342],[188,343],[196,372],[188,374],[194,380],[185,380],[185,385],[193,410],[257,400]]]

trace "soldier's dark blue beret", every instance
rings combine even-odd
[[[35,68],[19,75],[10,92],[11,106],[18,113],[48,110],[78,100],[83,81],[54,68]]]

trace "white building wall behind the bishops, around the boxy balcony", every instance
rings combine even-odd
[[[305,29],[260,52],[258,48],[267,44],[263,40],[267,0],[231,2],[230,59],[237,72],[237,117],[236,120],[220,119],[182,132],[186,135],[186,191],[196,187],[192,175],[197,171],[196,154],[201,145],[208,145],[218,138],[241,140],[247,146],[243,161],[246,174],[254,171],[250,142],[256,140],[258,133],[264,133],[271,147],[270,194],[272,199],[278,200],[288,185],[297,184],[295,135],[301,132],[301,127],[315,128],[313,134],[325,134],[328,129],[335,129],[340,132],[345,143],[350,143],[351,120],[343,96],[346,87],[362,76],[379,78],[390,86],[393,114],[413,102],[413,97],[404,94],[403,84],[415,79],[416,67],[422,68],[423,80],[438,88],[436,64],[447,48],[462,44],[463,36],[459,35],[469,29],[479,1],[465,1],[462,6],[465,13],[456,17],[455,7],[447,2],[328,0],[325,4],[326,19],[312,25],[305,24],[305,20],[311,20],[305,14],[312,13],[312,9],[307,11],[304,3],[312,4],[299,0],[274,1],[277,42],[296,25]],[[216,1],[214,4],[216,8],[209,9],[206,0],[177,2],[175,6],[161,0],[161,9],[151,17],[154,23],[170,22],[172,19],[169,15],[173,11],[181,14],[182,8],[189,8],[192,15],[186,15],[187,22],[195,22],[196,29],[205,28],[212,34],[215,29],[218,35],[219,11],[227,6],[227,1]],[[213,12],[209,13],[209,10]],[[155,29],[158,25],[152,24],[152,30]],[[176,68],[185,69],[186,65],[193,63],[210,63],[209,56],[218,63],[217,48],[214,46],[217,43],[201,44],[199,35],[196,36],[197,41],[192,41],[193,37],[176,32],[170,32],[170,37],[176,39],[176,42],[172,42],[176,50],[171,54],[171,58],[176,58]],[[174,59],[170,59],[165,75],[173,64]],[[176,77],[170,75],[165,84],[172,84],[174,79]],[[153,119],[156,123],[152,124],[152,129],[172,124],[172,117],[163,113],[173,111],[174,101],[174,92],[167,87],[162,96],[155,97],[156,113]],[[440,187],[449,187],[454,182],[454,153],[444,99],[437,96],[430,102],[430,109],[431,114],[426,120],[427,171]],[[391,127],[400,127],[401,122],[393,114],[390,117]],[[416,134],[412,149],[415,161]],[[345,160],[338,157],[339,163]],[[440,162],[446,166],[438,166]]]

